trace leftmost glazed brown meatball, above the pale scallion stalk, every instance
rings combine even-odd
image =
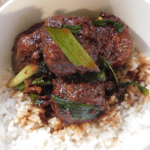
[[[15,73],[27,64],[39,62],[43,24],[37,23],[17,36],[12,48],[12,67]]]

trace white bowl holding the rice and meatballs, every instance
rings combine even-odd
[[[149,0],[10,0],[0,8],[0,74],[11,66],[15,37],[34,23],[57,14],[97,17],[101,11],[120,17],[136,48],[150,51]]]

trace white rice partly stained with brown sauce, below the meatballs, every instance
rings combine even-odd
[[[128,71],[140,76],[140,84],[150,84],[150,58],[133,52],[126,69],[117,72],[119,81],[130,81]],[[43,125],[39,114],[44,110],[32,106],[21,92],[6,88],[13,76],[7,70],[0,89],[0,149],[1,150],[148,150],[150,149],[150,97],[133,85],[127,88],[125,100],[111,96],[110,115],[98,123],[64,127],[57,118]],[[133,107],[132,107],[132,106]]]

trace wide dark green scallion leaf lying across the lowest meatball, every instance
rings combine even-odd
[[[72,102],[55,95],[51,95],[53,100],[57,103],[61,113],[71,113],[74,119],[94,119],[99,117],[105,110],[102,110],[93,105],[82,104],[78,102]]]

